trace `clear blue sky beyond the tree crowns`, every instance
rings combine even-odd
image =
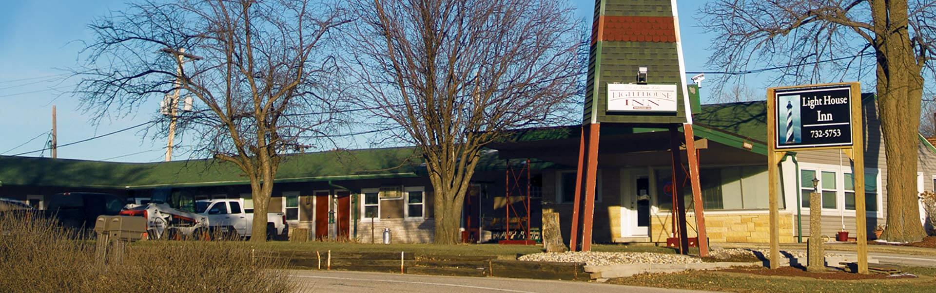
[[[6,1],[0,9],[0,152],[34,141],[4,153],[18,154],[43,148],[51,129],[51,105],[58,108],[58,142],[63,145],[98,134],[110,133],[147,121],[153,112],[130,113],[119,119],[90,124],[90,114],[80,110],[76,97],[60,95],[71,89],[74,80],[63,80],[62,68],[78,64],[80,40],[90,39],[85,25],[95,17],[124,7],[125,0],[35,0]],[[578,17],[592,21],[593,2],[573,0]],[[688,71],[702,71],[709,51],[709,38],[695,27],[695,12],[705,1],[680,1],[680,32]],[[26,79],[28,78],[28,79]],[[709,79],[710,80],[710,79]],[[748,81],[763,80],[749,78]],[[751,84],[755,89],[762,85]],[[759,91],[759,90],[758,90]],[[703,99],[706,93],[703,91]],[[60,147],[59,158],[118,161],[157,161],[164,153],[164,140],[142,138],[141,133],[124,132],[74,146]],[[184,145],[184,141],[182,142]],[[38,156],[39,153],[29,156]],[[46,151],[44,156],[48,157]],[[177,157],[178,158],[178,157]],[[182,157],[178,159],[184,159]]]

